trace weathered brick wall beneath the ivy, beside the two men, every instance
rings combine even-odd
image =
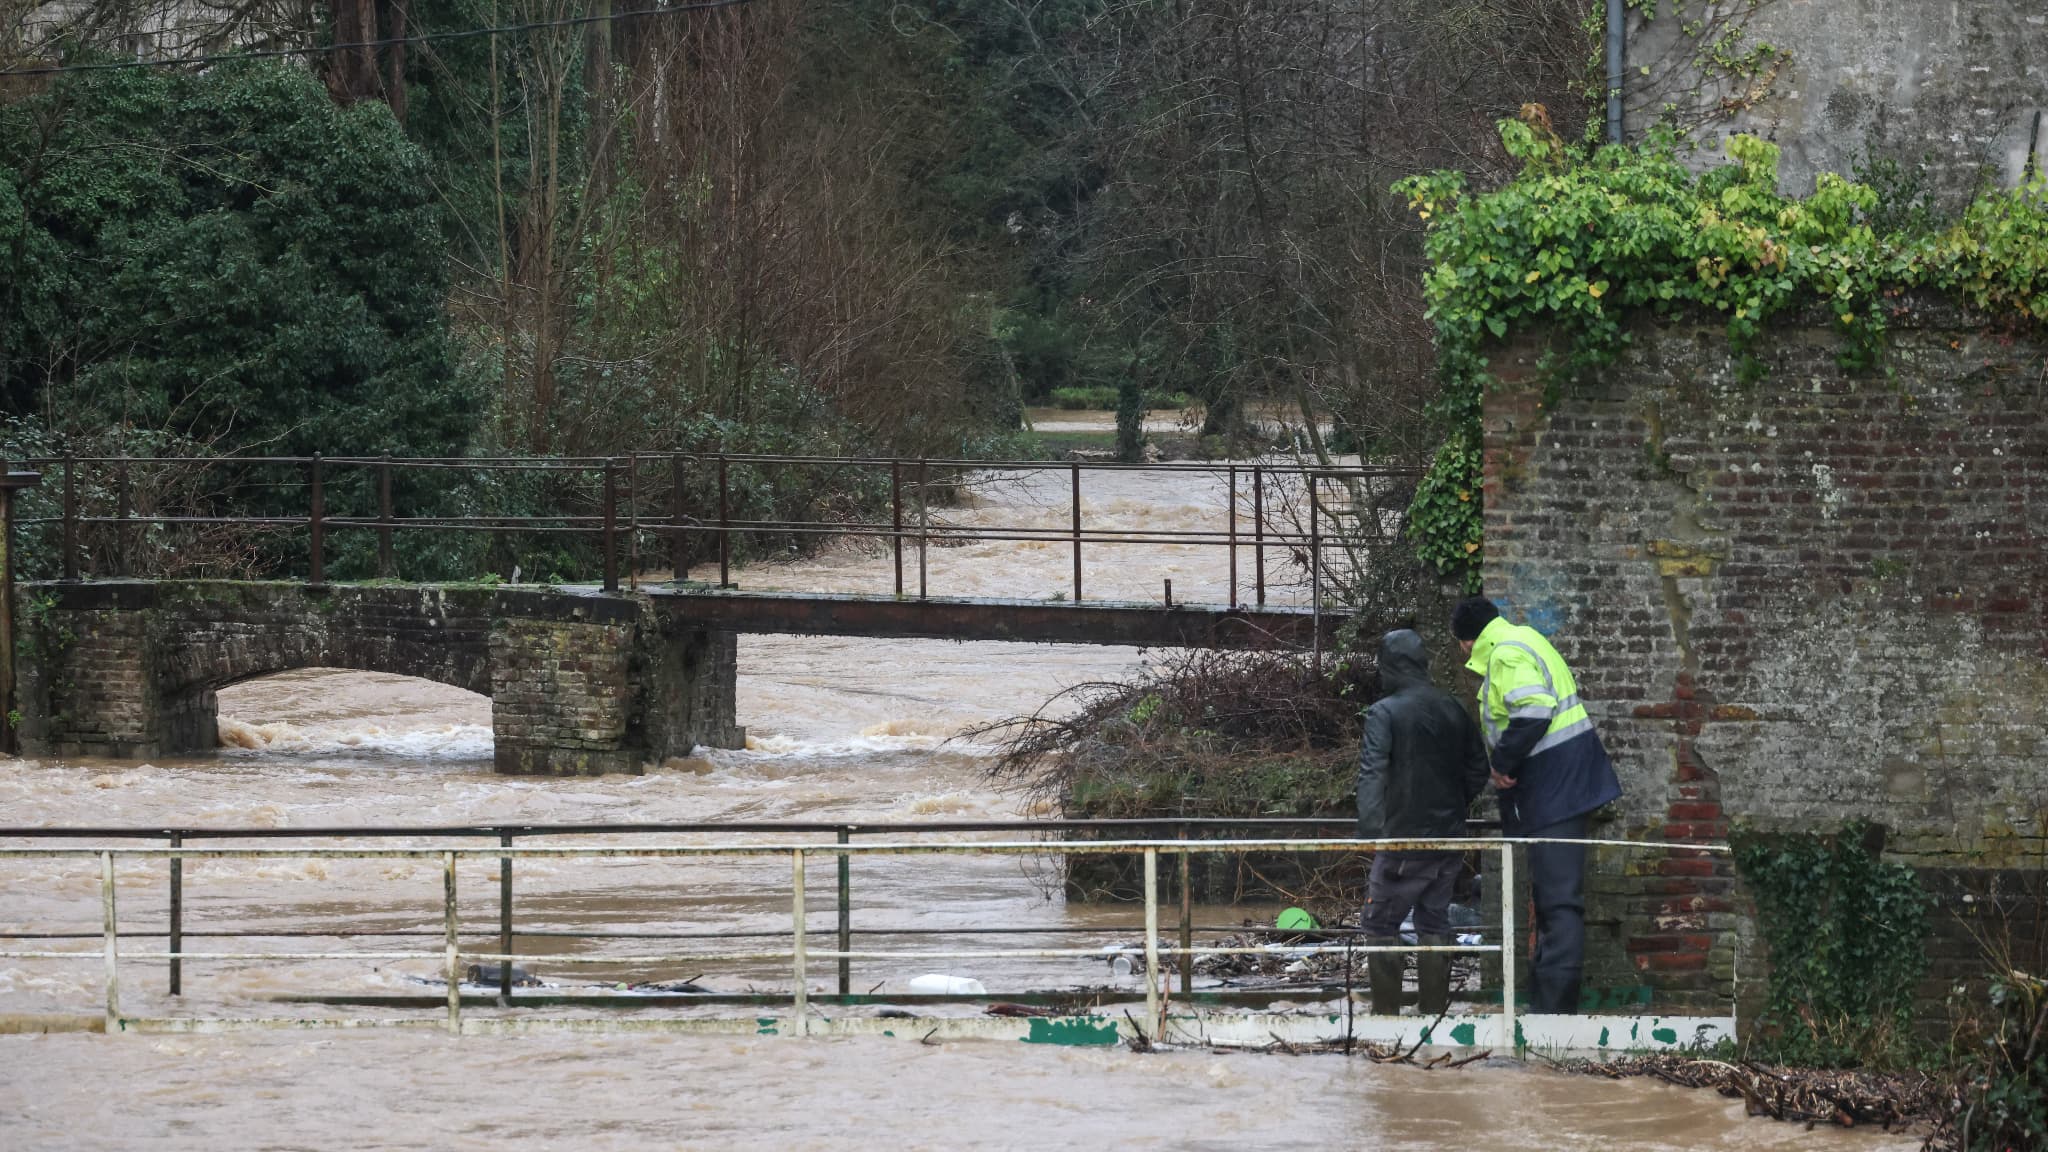
[[[1978,935],[2042,947],[2044,346],[1933,305],[1884,371],[1839,346],[1774,330],[1743,383],[1718,324],[1642,326],[1554,408],[1534,346],[1495,357],[1487,588],[1579,672],[1626,789],[1599,832],[1669,845],[1599,859],[1591,984],[1755,1002],[1731,865],[1688,849],[1735,820],[1888,828],[1948,898],[1931,998],[1982,972]]]

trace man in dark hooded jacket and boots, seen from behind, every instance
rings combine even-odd
[[[1409,629],[1380,640],[1380,689],[1386,695],[1366,711],[1366,740],[1358,752],[1358,836],[1464,836],[1464,814],[1487,787],[1479,726],[1430,683],[1430,654],[1421,635]],[[1452,943],[1450,888],[1462,865],[1464,855],[1456,851],[1376,853],[1366,883],[1366,943],[1401,943],[1401,920],[1409,912],[1415,912],[1417,943]],[[1401,953],[1368,959],[1374,1015],[1401,1015]],[[1450,1006],[1450,953],[1421,953],[1415,978],[1425,1017]]]

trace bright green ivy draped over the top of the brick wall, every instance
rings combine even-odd
[[[1778,148],[1733,137],[1735,164],[1694,174],[1669,143],[1565,148],[1503,121],[1513,182],[1473,195],[1458,172],[1403,180],[1427,221],[1427,299],[1444,445],[1411,533],[1425,562],[1477,580],[1483,558],[1479,408],[1489,357],[1516,332],[1550,340],[1554,379],[1610,363],[1636,316],[1722,316],[1741,348],[1792,310],[1845,334],[1843,359],[1882,353],[1890,295],[1931,289],[2015,322],[2048,320],[2048,182],[1980,195],[1948,228],[1878,234],[1876,193],[1821,174],[1810,197],[1778,191]]]

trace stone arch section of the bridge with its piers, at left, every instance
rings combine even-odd
[[[477,584],[236,580],[25,584],[18,734],[31,756],[147,758],[219,744],[215,691],[360,668],[492,699],[500,773],[639,773],[737,748],[735,635],[647,596]]]

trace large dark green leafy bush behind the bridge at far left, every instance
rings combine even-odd
[[[426,166],[303,70],[66,76],[0,107],[0,389],[57,430],[438,455],[446,342]]]

